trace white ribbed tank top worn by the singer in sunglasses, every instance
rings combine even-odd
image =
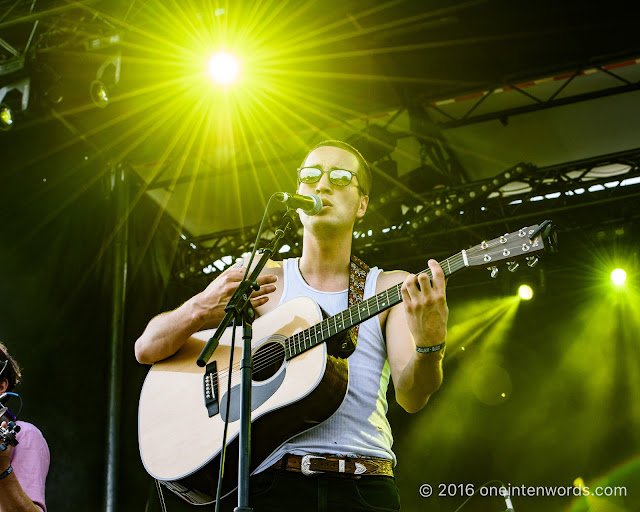
[[[298,258],[282,262],[284,288],[280,304],[306,296],[316,301],[329,315],[347,309],[348,290],[323,292],[311,288],[302,278]],[[372,268],[367,275],[364,298],[375,295],[376,281],[382,272]],[[292,437],[258,468],[259,473],[282,458],[294,455],[333,454],[349,457],[396,457],[391,450],[393,436],[387,421],[389,361],[380,321],[377,316],[360,324],[356,351],[349,357],[349,388],[342,405],[327,421]]]

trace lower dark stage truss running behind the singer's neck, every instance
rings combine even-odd
[[[354,252],[383,268],[414,269],[482,240],[552,219],[561,247],[630,237],[640,208],[640,149],[545,168],[521,163],[486,180],[444,187],[418,197],[391,191],[374,198],[354,231]],[[278,215],[272,217],[278,225]],[[187,286],[210,281],[251,250],[257,226],[184,236],[174,277]],[[289,234],[282,256],[299,256],[301,229]],[[259,246],[273,237],[268,227]]]

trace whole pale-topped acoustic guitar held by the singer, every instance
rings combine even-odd
[[[516,265],[555,247],[549,221],[505,234],[442,261],[445,276],[465,268]],[[430,270],[425,270],[430,277]],[[281,444],[328,419],[342,403],[348,360],[336,357],[340,336],[402,301],[401,284],[329,318],[307,297],[280,305],[253,324],[251,470]],[[227,387],[231,329],[202,368],[196,359],[213,330],[195,333],[152,366],[140,395],[138,438],[147,472],[192,504],[215,501],[225,417],[229,416],[223,496],[237,486],[241,332]],[[238,329],[238,331],[241,331]],[[336,341],[338,340],[338,341]],[[230,406],[227,410],[227,395]]]

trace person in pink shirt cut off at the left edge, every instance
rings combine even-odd
[[[0,343],[0,424],[4,429],[15,418],[3,403],[21,378],[20,367]],[[49,472],[49,447],[42,432],[31,423],[17,421],[16,446],[5,442],[0,449],[0,510],[46,512],[45,482]]]

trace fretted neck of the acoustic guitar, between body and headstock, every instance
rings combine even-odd
[[[460,251],[457,254],[440,262],[445,277],[466,268],[466,253]],[[429,279],[433,279],[431,269],[425,269],[418,274],[427,274]],[[374,295],[337,315],[325,318],[322,322],[312,325],[304,331],[300,331],[291,336],[285,343],[285,357],[292,359],[303,352],[324,343],[329,338],[340,334],[354,325],[364,322],[369,318],[381,313],[402,302],[402,283],[398,283],[383,292]]]

